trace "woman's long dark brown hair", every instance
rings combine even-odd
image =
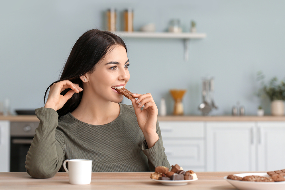
[[[70,52],[60,79],[50,84],[46,89],[44,93],[44,104],[46,104],[46,93],[48,89],[59,81],[70,80],[83,89],[83,83],[79,77],[85,73],[93,72],[95,65],[116,45],[124,46],[127,51],[127,47],[122,38],[111,32],[92,29],[82,34]],[[70,88],[65,89],[60,94],[65,95],[69,90]],[[64,106],[57,110],[58,117],[74,111],[81,101],[82,94],[83,91],[74,93]]]

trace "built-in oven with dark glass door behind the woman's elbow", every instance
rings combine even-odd
[[[26,171],[27,152],[39,122],[11,122],[10,171]]]

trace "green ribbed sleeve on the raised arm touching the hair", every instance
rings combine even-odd
[[[33,178],[50,178],[58,172],[65,159],[64,139],[61,131],[56,129],[58,114],[54,109],[36,109],[36,116],[40,123],[27,154],[27,173]]]

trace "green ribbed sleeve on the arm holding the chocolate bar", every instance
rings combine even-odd
[[[159,139],[156,141],[153,147],[148,148],[146,140],[142,144],[143,153],[148,158],[148,167],[150,171],[154,171],[157,166],[165,166],[171,169],[171,166],[167,160],[167,156],[164,152],[165,148],[163,147],[162,136],[158,121],[156,122],[156,133],[159,136]]]

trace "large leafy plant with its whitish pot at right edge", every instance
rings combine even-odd
[[[258,73],[258,79],[263,79],[264,75]],[[278,84],[277,77],[273,77],[268,85],[262,81],[262,87],[259,94],[264,92],[271,100],[271,114],[274,116],[284,115],[284,100],[285,100],[285,83],[281,81]]]

